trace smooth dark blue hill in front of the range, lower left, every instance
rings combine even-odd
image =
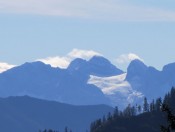
[[[54,101],[23,97],[0,98],[2,132],[38,132],[39,129],[85,132],[90,123],[113,108],[106,105],[73,106]]]

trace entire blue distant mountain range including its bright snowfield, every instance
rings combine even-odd
[[[25,63],[0,74],[0,97],[23,96],[73,105],[108,104],[124,108],[163,96],[175,85],[175,63],[162,71],[134,60],[123,72],[109,60],[77,58],[67,69],[42,62]]]

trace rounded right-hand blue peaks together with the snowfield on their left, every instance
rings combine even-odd
[[[118,105],[122,109],[128,104],[141,104],[143,97],[149,101],[163,97],[175,86],[175,63],[158,71],[140,60],[133,60],[127,73],[111,77],[91,75],[88,83],[99,87],[113,106]]]

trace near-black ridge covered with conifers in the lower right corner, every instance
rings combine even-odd
[[[159,98],[148,104],[145,98],[142,111],[138,114],[138,107],[130,106],[122,112],[115,111],[113,115],[93,122],[91,132],[175,131],[175,88],[165,95],[163,101]]]

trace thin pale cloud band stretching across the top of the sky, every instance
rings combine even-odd
[[[131,5],[123,0],[0,0],[1,13],[118,21],[175,21],[175,11]]]

